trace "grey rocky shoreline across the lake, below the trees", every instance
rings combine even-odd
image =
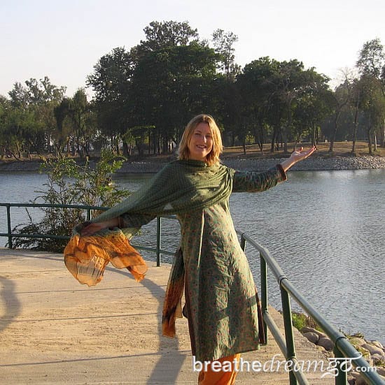
[[[263,171],[283,161],[281,159],[223,159],[222,163],[236,170]],[[167,161],[146,159],[143,161],[126,161],[118,173],[157,173]],[[0,161],[0,172],[38,171],[40,161]],[[309,157],[290,170],[368,170],[385,168],[385,157]]]

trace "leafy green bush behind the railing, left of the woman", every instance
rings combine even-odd
[[[79,165],[73,159],[45,160],[41,172],[48,175],[45,189],[35,191],[39,195],[31,203],[51,205],[89,205],[111,207],[130,195],[130,191],[118,189],[111,180],[123,164],[111,152],[102,152],[100,160],[92,165],[87,159]],[[20,224],[13,233],[69,236],[72,228],[86,220],[84,210],[73,208],[40,208],[43,219],[34,223],[29,215],[29,223]],[[92,217],[98,212],[92,212]],[[15,238],[13,247],[32,248],[50,252],[62,252],[66,239]]]

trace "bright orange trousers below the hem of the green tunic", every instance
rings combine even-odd
[[[235,383],[235,377],[237,377],[237,370],[239,368],[239,360],[241,354],[234,354],[233,356],[219,358],[216,361],[219,361],[221,364],[208,365],[207,370],[202,369],[198,376],[199,385],[232,385]],[[237,365],[233,362],[237,360]],[[211,361],[216,363],[216,361]],[[223,364],[225,361],[231,363]],[[213,370],[214,368],[214,370]],[[223,370],[215,370],[218,368],[223,368]]]

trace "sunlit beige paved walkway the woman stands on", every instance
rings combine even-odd
[[[196,384],[186,319],[177,320],[176,338],[160,333],[170,267],[149,264],[140,283],[107,267],[88,288],[59,254],[0,248],[0,384]],[[282,327],[280,314],[269,312]],[[310,342],[295,338],[299,360],[327,367]],[[266,368],[273,357],[273,368],[283,361],[271,335],[267,347],[242,357],[237,384],[288,384],[283,368],[246,370],[253,361]],[[309,383],[334,384],[321,375],[309,372]]]

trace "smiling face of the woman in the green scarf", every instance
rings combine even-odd
[[[201,122],[195,127],[188,143],[188,159],[206,161],[207,155],[213,150],[213,136],[208,123]]]

